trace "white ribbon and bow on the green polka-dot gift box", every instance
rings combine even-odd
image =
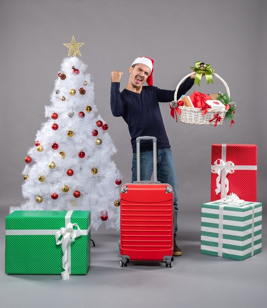
[[[56,245],[62,246],[63,257],[62,257],[62,267],[64,269],[61,272],[61,277],[64,280],[70,278],[71,273],[71,242],[81,235],[87,235],[91,230],[91,225],[87,230],[80,230],[76,223],[71,223],[71,216],[73,211],[68,211],[65,216],[65,227],[60,228],[60,230],[53,229],[26,229],[26,230],[5,230],[6,235],[55,235]],[[74,226],[77,229],[74,229]],[[59,238],[62,236],[62,239]]]

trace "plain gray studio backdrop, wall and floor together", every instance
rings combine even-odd
[[[70,296],[70,300],[64,298],[63,302],[78,303],[79,307],[134,307],[138,303],[146,307],[163,307],[165,303],[169,307],[262,307],[266,300],[265,242],[262,253],[243,262],[204,256],[199,254],[199,226],[200,205],[210,199],[212,143],[258,146],[258,200],[266,204],[266,30],[265,0],[0,1],[3,307],[17,307],[19,302],[31,306],[38,297],[39,307],[61,307],[59,293]],[[80,48],[81,59],[88,64],[87,72],[95,83],[95,103],[109,124],[109,133],[118,149],[113,158],[124,183],[131,181],[132,153],[126,124],[110,111],[112,70],[124,72],[122,90],[133,60],[148,56],[155,61],[154,85],[175,89],[191,71],[190,66],[200,60],[211,63],[226,80],[237,103],[235,125],[231,128],[229,123],[216,128],[175,123],[168,104],[161,104],[178,175],[178,238],[184,252],[171,269],[172,274],[147,264],[118,269],[118,233],[104,227],[93,232],[99,246],[92,251],[89,274],[72,277],[68,287],[57,276],[3,274],[4,216],[9,206],[23,201],[24,157],[34,144],[40,123],[46,121],[44,106],[49,104],[60,63],[68,53],[62,44],[69,43],[72,35],[77,42],[85,43]],[[224,87],[218,80],[209,86],[202,80],[201,87],[194,86],[193,90],[215,93],[224,91]],[[131,276],[126,274],[129,271]],[[58,286],[58,292],[54,291]],[[119,292],[122,287],[126,293]],[[159,296],[159,291],[167,294],[166,300]],[[222,292],[227,296],[222,296]],[[32,300],[28,298],[30,294]],[[126,301],[127,297],[132,300]]]

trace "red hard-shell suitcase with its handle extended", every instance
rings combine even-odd
[[[140,141],[153,140],[154,181],[140,181]],[[173,264],[173,189],[156,181],[156,138],[138,137],[137,181],[120,192],[120,266],[130,260]]]

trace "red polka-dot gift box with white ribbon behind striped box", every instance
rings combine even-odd
[[[257,146],[213,144],[211,146],[211,201],[231,192],[240,199],[257,202]]]

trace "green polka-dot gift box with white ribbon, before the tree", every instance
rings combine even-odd
[[[87,274],[90,211],[14,211],[5,228],[6,274]]]

